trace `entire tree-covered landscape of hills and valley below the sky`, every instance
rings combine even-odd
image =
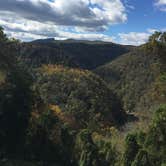
[[[0,28],[0,165],[164,166],[165,33],[128,51],[20,43]]]

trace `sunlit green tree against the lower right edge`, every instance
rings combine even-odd
[[[145,147],[156,164],[166,162],[166,105],[162,105],[156,111],[147,133]]]

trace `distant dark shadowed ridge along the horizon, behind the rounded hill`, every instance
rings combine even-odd
[[[20,55],[33,67],[42,64],[62,64],[94,69],[133,48],[109,42],[45,39],[23,43]]]

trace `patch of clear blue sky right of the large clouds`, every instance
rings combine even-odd
[[[123,1],[125,4],[126,1]],[[117,34],[130,34],[133,32],[135,36],[138,34],[145,34],[145,39],[139,42],[133,41],[122,41],[118,37],[117,42],[128,43],[128,44],[141,44],[146,42],[146,34],[151,35],[155,30],[164,31],[166,30],[166,11],[161,10],[161,6],[156,5],[157,1],[153,0],[128,0],[126,3],[131,6],[127,11],[127,21],[124,24],[118,24],[115,26],[110,26],[108,31],[105,32],[107,35],[117,36]],[[138,35],[139,36],[139,35]]]

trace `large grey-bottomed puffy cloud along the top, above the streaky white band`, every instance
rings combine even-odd
[[[105,30],[127,20],[121,0],[0,0],[0,10],[28,20]]]

